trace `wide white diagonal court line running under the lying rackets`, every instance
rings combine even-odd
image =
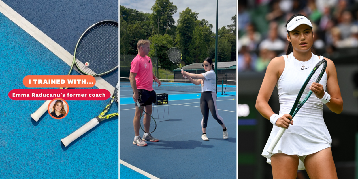
[[[58,56],[62,61],[67,63],[67,65],[71,66],[73,61],[73,55],[66,51],[63,47],[58,45],[55,41],[53,41],[50,37],[40,31],[37,27],[31,24],[28,20],[26,20],[23,16],[18,14],[16,11],[11,9],[5,2],[0,0],[0,12],[8,17],[11,21],[13,21],[16,25],[21,27],[25,32],[29,35],[33,36],[34,39],[39,41],[42,45],[44,45],[48,50]],[[92,25],[92,24],[91,24]],[[77,72],[79,72],[76,68],[74,68]],[[82,73],[79,73],[82,75]],[[107,89],[112,93],[114,88],[110,83],[103,80],[101,77],[96,77],[96,87],[99,89]]]

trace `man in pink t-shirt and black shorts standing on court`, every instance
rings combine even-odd
[[[149,46],[150,42],[147,40],[138,41],[138,55],[132,60],[129,80],[131,82],[134,93],[134,102],[139,101],[139,104],[144,106],[145,111],[148,114],[151,114],[152,104],[156,99],[155,91],[153,90],[153,80],[158,83],[158,86],[161,85],[161,82],[153,73],[153,65],[150,57],[148,56],[150,51]],[[138,146],[146,146],[147,143],[144,141],[158,142],[158,139],[154,138],[151,136],[151,134],[148,133],[144,133],[143,137],[140,138],[139,122],[143,111],[139,109],[137,104],[135,104],[135,106],[135,116],[133,119],[135,137],[133,144],[137,144]]]

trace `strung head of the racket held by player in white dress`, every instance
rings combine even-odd
[[[303,104],[308,100],[311,96],[312,91],[310,87],[313,82],[319,83],[324,72],[327,67],[327,61],[321,60],[319,61],[316,66],[312,69],[311,73],[306,78],[305,83],[302,85],[299,94],[297,95],[296,101],[294,106],[291,109],[290,115],[294,117],[294,115],[298,112],[298,110],[303,106]]]

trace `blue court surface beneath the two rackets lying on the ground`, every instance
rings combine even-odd
[[[11,9],[5,9],[5,5]],[[95,8],[108,5],[114,10]],[[0,178],[118,178],[117,117],[98,124],[68,147],[61,144],[62,138],[98,116],[108,100],[67,101],[69,113],[65,118],[56,120],[45,113],[35,122],[30,114],[44,101],[14,101],[8,97],[10,90],[26,88],[22,80],[27,75],[67,75],[70,69],[59,56],[30,35],[25,25],[20,27],[10,20],[10,11],[21,15],[73,54],[79,36],[87,27],[99,19],[118,21],[118,1],[4,0],[0,1],[0,6],[0,70],[5,73],[0,79],[3,84],[0,92]],[[72,75],[79,73],[73,71]],[[115,86],[118,70],[103,79]],[[117,111],[118,104],[114,103],[109,113]]]

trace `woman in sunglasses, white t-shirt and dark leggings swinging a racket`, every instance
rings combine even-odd
[[[214,119],[218,121],[218,123],[223,128],[223,138],[227,139],[228,133],[227,129],[225,127],[223,118],[219,116],[218,108],[216,105],[216,74],[213,65],[213,60],[211,58],[205,58],[203,62],[205,73],[201,74],[194,74],[189,73],[182,70],[183,76],[186,76],[190,82],[192,82],[194,85],[202,85],[202,94],[200,96],[200,110],[203,114],[202,119],[202,139],[203,140],[209,140],[206,136],[206,126],[208,124],[208,118],[209,118],[209,110],[211,111],[211,114],[213,115]],[[193,78],[197,78],[199,80],[193,80]]]

